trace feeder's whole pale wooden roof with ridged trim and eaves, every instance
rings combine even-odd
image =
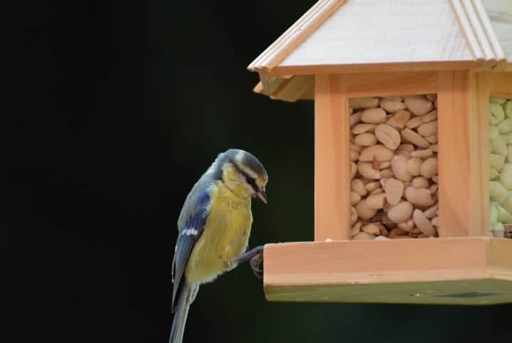
[[[319,0],[248,66],[288,101],[312,97],[295,75],[481,68],[512,71],[510,0]]]

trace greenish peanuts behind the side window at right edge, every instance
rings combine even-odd
[[[512,99],[489,102],[491,233],[512,238]]]

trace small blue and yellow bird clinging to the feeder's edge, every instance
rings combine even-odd
[[[173,258],[173,327],[169,343],[181,343],[190,305],[199,286],[250,260],[253,271],[262,246],[247,251],[252,226],[251,199],[267,204],[268,174],[242,149],[218,154],[195,183],[178,217]],[[247,252],[246,252],[247,251]]]

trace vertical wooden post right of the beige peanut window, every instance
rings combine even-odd
[[[439,72],[439,236],[469,236],[471,218],[481,209],[471,201],[469,76]],[[476,213],[471,213],[476,211]]]

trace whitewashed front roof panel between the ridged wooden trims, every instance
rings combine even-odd
[[[279,65],[464,60],[474,58],[448,1],[357,0],[341,6]]]

